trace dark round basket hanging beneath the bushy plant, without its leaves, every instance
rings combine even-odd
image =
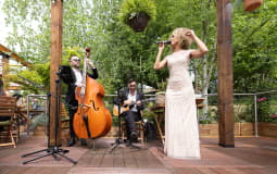
[[[143,32],[149,20],[150,16],[147,13],[140,12],[138,15],[130,18],[128,24],[135,32]]]

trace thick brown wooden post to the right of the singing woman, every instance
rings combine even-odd
[[[218,130],[223,147],[235,147],[231,45],[231,2],[217,0]]]

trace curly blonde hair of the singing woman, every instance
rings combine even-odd
[[[177,38],[178,44],[182,49],[189,49],[192,44],[192,39],[188,37],[186,34],[189,32],[189,28],[179,27],[173,30],[172,35]]]

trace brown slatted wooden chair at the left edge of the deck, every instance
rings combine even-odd
[[[16,137],[17,133],[13,132],[18,128],[17,124],[14,122],[15,117],[15,109],[16,109],[16,98],[14,97],[7,97],[7,96],[1,96],[0,97],[0,138],[1,140],[3,138],[11,139],[10,142],[0,142],[0,146],[13,146],[16,148],[15,141],[14,141],[14,135]],[[4,117],[4,119],[3,119]],[[4,120],[4,121],[3,121]]]

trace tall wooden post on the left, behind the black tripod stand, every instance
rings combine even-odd
[[[60,101],[61,87],[56,89],[56,79],[59,76],[59,67],[62,62],[62,23],[63,23],[63,0],[51,1],[51,64],[50,64],[50,129],[49,129],[49,146],[61,146],[61,117],[56,115],[56,110],[60,109],[60,102],[56,102],[55,96]],[[56,127],[56,117],[58,124]],[[58,135],[55,137],[55,130],[58,128]],[[56,141],[55,141],[56,138]],[[55,144],[56,142],[56,144]]]

